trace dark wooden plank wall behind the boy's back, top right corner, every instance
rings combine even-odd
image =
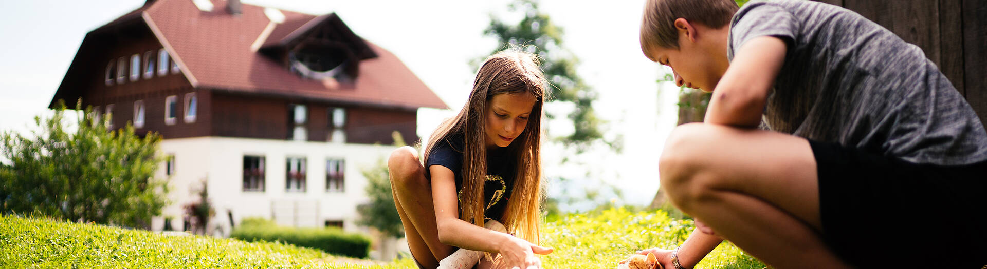
[[[819,0],[853,10],[925,51],[987,122],[983,0]]]

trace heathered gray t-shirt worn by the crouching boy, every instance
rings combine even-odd
[[[765,35],[788,43],[770,129],[912,163],[987,160],[980,119],[918,46],[838,6],[751,1],[733,16],[727,57]]]

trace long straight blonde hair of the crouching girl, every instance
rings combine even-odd
[[[507,232],[533,243],[540,243],[539,226],[542,202],[541,118],[542,104],[547,99],[548,83],[539,68],[537,56],[508,48],[484,61],[473,82],[473,91],[466,106],[455,117],[442,122],[432,133],[421,160],[428,160],[439,143],[448,143],[454,135],[465,137],[463,147],[462,196],[459,219],[484,227],[484,184],[487,176],[486,118],[488,104],[496,95],[531,94],[528,125],[519,139],[506,148],[514,157],[517,171],[514,186],[507,198],[502,221]],[[427,168],[426,168],[427,169]]]

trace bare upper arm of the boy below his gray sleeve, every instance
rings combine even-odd
[[[786,47],[774,36],[755,37],[740,46],[713,92],[705,122],[757,128]]]

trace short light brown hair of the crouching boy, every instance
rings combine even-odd
[[[720,29],[730,23],[737,9],[734,0],[647,0],[641,20],[641,50],[647,54],[655,46],[678,49],[678,18]]]

